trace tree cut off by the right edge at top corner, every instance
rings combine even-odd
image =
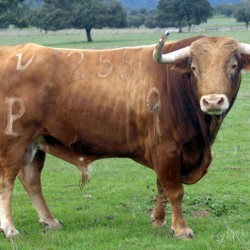
[[[245,0],[236,5],[234,17],[236,18],[237,22],[245,23],[246,28],[248,29],[250,22],[250,0]]]

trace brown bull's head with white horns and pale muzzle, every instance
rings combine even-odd
[[[190,73],[203,112],[210,115],[227,112],[239,89],[241,69],[250,68],[250,44],[228,37],[204,37],[188,47],[162,55],[167,36],[165,33],[156,45],[154,60]]]

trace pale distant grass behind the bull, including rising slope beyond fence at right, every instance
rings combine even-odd
[[[195,26],[196,27],[196,26]],[[244,23],[237,23],[235,18],[215,16],[207,23],[199,25],[199,29],[192,28],[192,32],[171,32],[170,40],[180,40],[195,35],[230,36],[241,42],[250,42],[250,31],[244,29]],[[228,27],[241,27],[231,31]],[[211,28],[211,29],[210,29]],[[220,29],[220,30],[217,30]],[[197,30],[194,32],[194,30]],[[154,44],[165,29],[93,29],[91,34],[94,43],[86,42],[84,30],[67,30],[48,32],[47,35],[39,33],[36,29],[23,31],[7,31],[0,33],[0,45],[16,45],[33,42],[51,47],[103,49],[114,47],[138,46]],[[185,29],[184,29],[185,31]],[[206,32],[203,32],[206,31]],[[11,34],[11,35],[10,35]],[[18,35],[19,34],[19,35]]]

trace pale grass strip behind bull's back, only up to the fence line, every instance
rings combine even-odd
[[[143,30],[93,30],[92,37],[94,43],[86,42],[85,32],[78,33],[52,33],[48,35],[26,35],[26,36],[2,36],[0,37],[0,45],[16,45],[20,43],[33,42],[51,47],[58,48],[84,48],[84,49],[104,49],[116,48],[126,46],[138,46],[155,44],[164,29],[154,29],[149,32],[147,29]],[[190,36],[208,35],[208,36],[230,36],[239,39],[241,42],[249,43],[249,32],[243,31],[210,31],[210,32],[172,32],[169,40],[180,40]]]

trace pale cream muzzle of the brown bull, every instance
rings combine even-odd
[[[229,108],[229,101],[226,95],[210,94],[200,99],[201,110],[210,115],[221,115]]]

